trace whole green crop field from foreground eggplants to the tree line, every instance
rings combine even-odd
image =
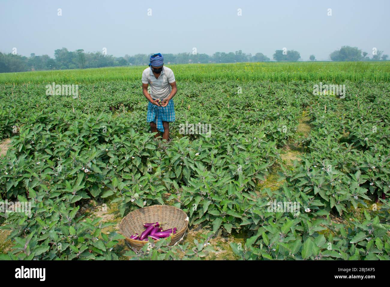
[[[169,142],[144,66],[0,74],[0,194],[32,202],[0,217],[0,259],[390,259],[389,62],[167,66]],[[118,222],[155,204],[188,233],[135,253]]]

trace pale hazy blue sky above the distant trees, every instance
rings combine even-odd
[[[57,16],[57,9],[62,16]],[[152,9],[152,16],[147,10]],[[242,16],[238,16],[238,9]],[[332,16],[328,16],[328,8]],[[390,1],[0,1],[0,51],[29,56],[66,47],[136,53],[297,50],[318,60],[344,45],[390,54]]]

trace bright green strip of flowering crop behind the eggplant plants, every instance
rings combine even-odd
[[[390,80],[389,62],[268,62],[237,64],[183,64],[167,65],[175,71],[177,81],[190,80],[270,80],[273,82],[300,81],[374,81]],[[139,81],[144,66],[100,68],[85,70],[55,70],[22,73],[1,73],[0,82],[74,84],[99,81]]]

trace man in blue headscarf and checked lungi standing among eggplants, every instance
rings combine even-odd
[[[175,121],[175,109],[172,98],[177,92],[175,75],[168,67],[163,67],[164,57],[160,53],[150,57],[149,68],[142,72],[142,92],[149,100],[147,121],[154,137],[163,133],[163,139],[169,138],[169,123]],[[150,84],[148,93],[147,87]]]

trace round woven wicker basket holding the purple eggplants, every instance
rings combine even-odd
[[[129,237],[135,233],[141,234],[145,230],[144,223],[156,221],[164,230],[177,228],[176,234],[171,237],[170,246],[183,239],[188,226],[188,216],[183,210],[170,205],[151,205],[130,212],[123,217],[119,232],[126,237],[125,241],[133,250],[140,250],[148,241],[134,240]]]

